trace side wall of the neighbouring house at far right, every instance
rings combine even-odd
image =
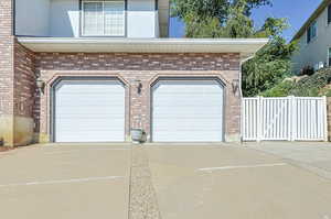
[[[331,47],[331,23],[328,24],[328,9],[317,19],[318,33],[307,44],[307,32],[298,40],[299,50],[292,56],[292,70],[299,73],[305,66],[314,67],[320,62],[328,64],[328,50]]]

